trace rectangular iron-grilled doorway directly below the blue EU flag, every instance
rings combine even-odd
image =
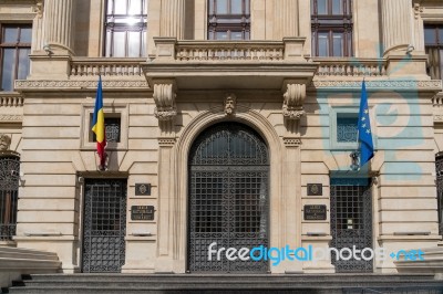
[[[372,192],[368,179],[331,180],[331,246],[358,250],[372,248]],[[370,256],[370,252],[365,252]],[[344,254],[346,255],[346,254]],[[372,272],[372,260],[338,260],[331,254],[336,271]]]

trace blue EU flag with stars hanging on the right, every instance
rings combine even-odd
[[[362,167],[373,157],[371,122],[369,119],[368,94],[364,81],[361,86],[359,124],[357,129],[359,132],[360,167]]]

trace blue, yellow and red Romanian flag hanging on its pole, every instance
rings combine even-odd
[[[102,77],[99,77],[99,86],[95,95],[94,116],[92,118],[92,132],[95,133],[97,143],[97,154],[100,156],[100,165],[104,168],[106,154],[104,147],[106,146],[106,132],[104,126],[104,112],[103,112],[103,93],[102,93]]]

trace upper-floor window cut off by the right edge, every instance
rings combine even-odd
[[[441,80],[443,69],[443,24],[424,27],[424,44],[427,54],[427,74]]]

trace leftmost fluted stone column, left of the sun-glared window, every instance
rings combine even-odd
[[[54,54],[74,52],[75,6],[75,0],[44,2],[44,41]]]

